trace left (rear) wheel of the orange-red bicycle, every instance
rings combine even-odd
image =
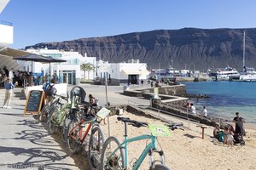
[[[66,146],[67,146],[67,152],[70,154],[74,154],[79,151],[80,141],[79,141],[78,133],[79,133],[80,128],[79,128],[79,126],[75,127],[77,123],[78,123],[78,121],[76,121],[76,119],[74,119],[74,120],[71,120],[67,126]],[[73,127],[75,127],[75,128],[73,129]]]

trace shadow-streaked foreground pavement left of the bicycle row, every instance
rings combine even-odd
[[[16,88],[15,95],[20,91]],[[1,107],[4,92],[0,89]],[[68,156],[32,115],[23,116],[25,104],[14,96],[12,109],[0,108],[0,169],[87,169]]]

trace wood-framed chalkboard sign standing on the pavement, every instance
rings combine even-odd
[[[38,114],[41,111],[41,106],[44,100],[44,92],[41,90],[32,90],[29,91],[28,97],[26,99],[26,106],[24,109],[25,116],[26,112],[32,114]]]

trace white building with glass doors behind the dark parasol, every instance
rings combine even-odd
[[[24,69],[26,69],[26,71],[31,71],[32,69],[34,73],[42,73],[44,76],[48,76],[50,72],[51,75],[57,76],[57,82],[67,82],[73,85],[79,84],[81,78],[84,77],[84,71],[81,71],[80,65],[90,63],[96,67],[96,57],[87,57],[86,54],[83,57],[79,52],[67,52],[48,48],[28,48],[26,51],[33,54],[51,56],[55,59],[66,59],[67,62],[51,63],[50,65],[38,62],[33,62],[31,65],[31,61],[26,62],[26,64],[20,61],[20,64],[25,66]],[[31,66],[33,68],[31,68]],[[94,79],[96,77],[96,71],[90,71],[89,77],[88,72],[85,72],[85,74],[87,79]]]

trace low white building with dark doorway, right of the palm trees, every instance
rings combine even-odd
[[[108,77],[111,84],[138,84],[146,80],[149,75],[146,63],[139,63],[139,59],[129,59],[127,63],[108,63],[97,61],[96,76],[104,79]]]

